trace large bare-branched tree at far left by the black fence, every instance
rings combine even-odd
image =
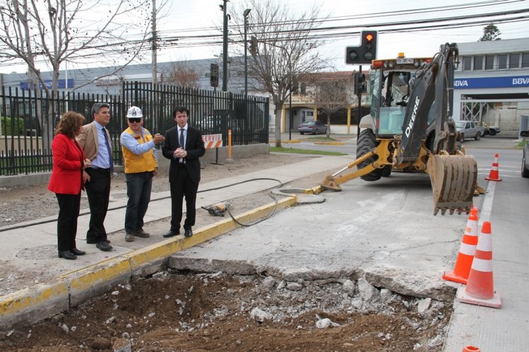
[[[149,1],[1,0],[0,24],[0,60],[23,61],[37,95],[44,90],[47,97],[57,97],[61,63],[119,63],[107,74],[112,75],[148,47]],[[129,40],[129,35],[139,40]],[[42,78],[40,62],[51,68],[51,87]],[[44,148],[53,136],[53,110],[49,104],[44,114],[37,111]]]

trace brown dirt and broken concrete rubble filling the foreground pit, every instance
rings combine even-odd
[[[350,280],[159,272],[32,327],[1,351],[441,351],[451,305]]]

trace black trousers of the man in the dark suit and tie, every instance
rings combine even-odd
[[[184,229],[191,229],[196,218],[196,191],[198,183],[191,181],[186,166],[178,166],[177,179],[170,183],[171,188],[171,231],[179,231],[182,221],[182,201],[186,198],[186,220]]]

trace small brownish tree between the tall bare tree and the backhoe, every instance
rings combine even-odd
[[[331,114],[346,109],[352,88],[350,73],[340,72],[313,75],[314,104],[327,115],[327,137],[331,134]]]

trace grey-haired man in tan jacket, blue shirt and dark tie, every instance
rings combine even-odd
[[[81,134],[77,136],[85,156],[92,162],[83,173],[90,205],[90,226],[86,233],[86,243],[95,243],[97,248],[105,252],[112,250],[103,224],[110,198],[110,178],[114,171],[112,143],[110,143],[110,134],[105,128],[110,121],[109,109],[110,105],[107,103],[93,104],[94,121],[83,126]]]

